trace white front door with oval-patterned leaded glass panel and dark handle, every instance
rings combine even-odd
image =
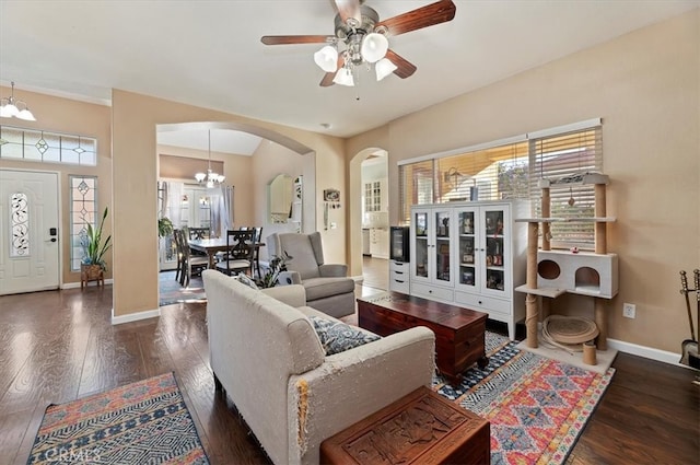
[[[0,295],[59,287],[58,174],[0,170]]]

